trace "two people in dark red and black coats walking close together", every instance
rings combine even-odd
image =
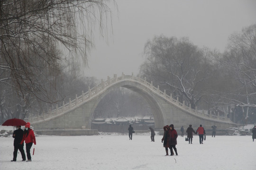
[[[171,124],[170,126],[166,125],[164,127],[164,136],[162,138],[162,143],[164,143],[164,147],[165,147],[165,152],[166,152],[166,155],[169,155],[168,154],[168,148],[170,149],[170,156],[173,156],[174,155],[174,151],[176,153],[176,155],[178,155],[177,153],[177,149],[176,149],[176,144],[177,144],[177,137],[178,137],[178,134],[176,132],[176,130],[174,129],[174,125]],[[174,149],[174,151],[173,151]]]

